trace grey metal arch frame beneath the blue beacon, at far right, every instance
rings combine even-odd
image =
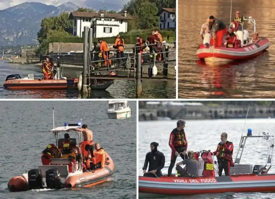
[[[274,132],[273,135],[268,135],[265,132],[263,132],[262,135],[260,135],[260,133],[259,133],[258,136],[252,136],[252,135],[249,135],[249,134],[247,134],[247,136],[242,136],[242,138],[240,140],[239,148],[237,150],[237,154],[235,156],[234,163],[235,164],[240,164],[241,157],[242,157],[242,154],[243,154],[243,149],[244,149],[247,138],[257,137],[257,138],[263,138],[265,140],[269,140],[269,138],[270,138],[269,148],[268,148],[268,152],[267,152],[267,156],[266,156],[266,163],[265,163],[265,166],[262,168],[262,169],[264,169],[264,168],[268,167],[267,171],[266,171],[266,172],[268,172],[269,169],[272,167],[273,149],[274,149],[274,144],[275,144],[274,135],[275,135],[275,132]]]

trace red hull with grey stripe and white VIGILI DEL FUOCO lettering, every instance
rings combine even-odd
[[[211,193],[275,192],[275,174],[243,174],[221,177],[139,176],[139,193],[161,195],[196,195]]]

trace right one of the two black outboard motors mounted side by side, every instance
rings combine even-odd
[[[61,178],[57,168],[46,171],[46,184],[48,189],[61,189]]]

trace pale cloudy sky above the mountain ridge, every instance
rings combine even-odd
[[[44,3],[47,5],[55,5],[58,6],[62,3],[65,2],[72,2],[75,3],[77,5],[77,2],[81,2],[81,1],[85,1],[85,0],[32,0],[32,1],[26,1],[26,0],[0,0],[0,10],[6,9],[8,7],[11,6],[16,6],[20,3],[24,3],[24,2],[40,2],[40,3]],[[90,0],[91,3],[93,2],[93,0]],[[102,0],[103,2],[104,0]],[[110,0],[105,0],[105,2],[108,2]],[[125,4],[126,2],[129,2],[130,0],[112,0],[112,2],[119,2],[122,4]]]

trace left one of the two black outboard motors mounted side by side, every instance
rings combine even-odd
[[[43,177],[40,169],[28,171],[29,189],[43,189]]]

